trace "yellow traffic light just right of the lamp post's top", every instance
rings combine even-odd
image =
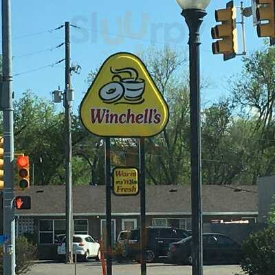
[[[212,39],[219,39],[212,43],[212,52],[213,54],[223,54],[223,60],[227,61],[234,58],[238,51],[234,2],[228,2],[225,9],[215,10],[215,19],[221,24],[211,29]]]

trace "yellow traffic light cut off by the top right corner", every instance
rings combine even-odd
[[[272,39],[275,39],[274,2],[274,0],[256,0],[256,4],[258,5],[256,8],[256,18],[258,21],[260,21],[260,23],[257,25],[257,34],[259,37],[270,37],[271,41]]]

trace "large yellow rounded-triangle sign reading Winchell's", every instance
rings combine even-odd
[[[104,62],[80,106],[85,128],[103,137],[150,137],[168,122],[168,106],[140,58]]]

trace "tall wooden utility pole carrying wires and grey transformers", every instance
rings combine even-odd
[[[73,198],[72,198],[72,85],[69,22],[65,22],[65,159],[66,159],[66,263],[73,263]]]

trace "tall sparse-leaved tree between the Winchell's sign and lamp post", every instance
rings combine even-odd
[[[184,184],[189,181],[189,96],[184,65],[186,56],[170,50],[148,50],[142,59],[169,107],[164,131],[148,139],[146,170],[153,184]]]

